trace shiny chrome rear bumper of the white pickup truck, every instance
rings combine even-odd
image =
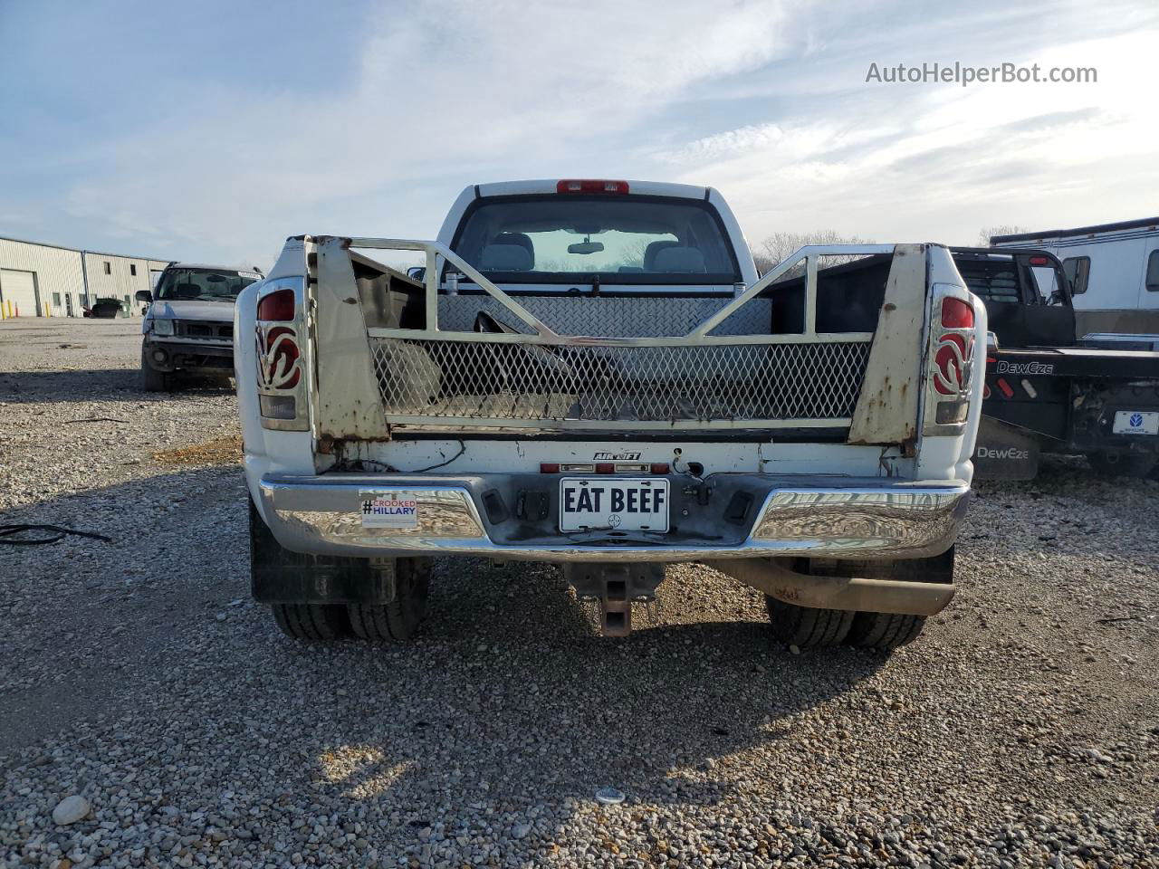
[[[489,475],[494,479],[497,475]],[[770,483],[764,505],[738,546],[706,546],[664,535],[655,543],[613,539],[496,543],[472,495],[479,477],[437,484],[414,477],[329,474],[261,479],[262,516],[287,549],[315,555],[475,555],[549,562],[716,561],[771,556],[921,558],[953,546],[965,516],[969,487],[885,482],[872,485]],[[478,487],[475,487],[478,488]],[[364,527],[362,502],[388,492],[418,502],[414,528]],[[573,535],[574,536],[574,535]]]

